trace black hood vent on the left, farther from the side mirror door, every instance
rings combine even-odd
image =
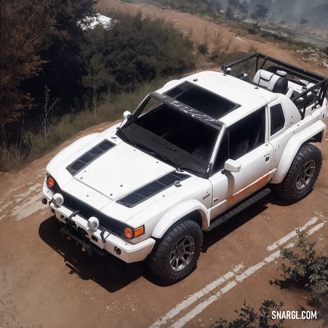
[[[97,146],[93,147],[89,152],[83,154],[75,162],[73,162],[66,169],[73,175],[79,173],[82,169],[88,166],[93,160],[98,158],[100,155],[106,153],[109,149],[114,147],[115,144],[108,140],[102,141]]]

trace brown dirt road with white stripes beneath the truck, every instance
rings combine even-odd
[[[318,241],[318,251],[327,244],[326,140],[319,145],[323,168],[306,199],[287,205],[271,193],[205,233],[197,269],[175,285],[163,284],[144,263],[88,257],[60,235],[41,203],[41,186],[46,164],[70,142],[19,172],[0,174],[0,327],[210,327],[220,317],[235,318],[244,298],[256,308],[264,299],[283,300],[285,310],[310,308],[307,294],[275,283],[278,245],[293,246],[298,227]],[[322,324],[287,320],[286,327]]]

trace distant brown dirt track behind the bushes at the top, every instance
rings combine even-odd
[[[231,35],[235,35],[235,33],[229,31],[229,28],[226,27],[225,24],[217,25],[196,15],[191,15],[189,13],[179,12],[176,10],[161,10],[160,8],[156,8],[155,6],[149,4],[127,4],[117,0],[99,0],[98,7],[100,10],[109,8],[124,12],[130,12],[131,14],[135,13],[137,10],[141,10],[143,15],[164,18],[174,23],[174,25],[182,32],[186,33],[190,30],[190,28],[192,28],[193,39],[197,43],[201,43],[205,26],[207,26],[207,31],[209,33],[210,39],[209,51],[212,51],[213,49],[213,33],[215,30],[223,30],[223,44],[227,42]],[[283,60],[292,65],[301,66],[305,70],[317,72],[328,77],[328,70],[326,68],[315,63],[303,62],[301,61],[299,54],[289,50],[280,49],[275,43],[261,43],[243,38],[241,36],[236,36],[234,42],[230,46],[231,51],[234,49],[236,44],[240,46],[240,50],[242,51],[248,51],[250,45],[253,45],[257,48],[257,51],[267,54],[268,56]]]

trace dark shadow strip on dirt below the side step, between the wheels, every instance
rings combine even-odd
[[[202,253],[206,253],[208,248],[217,243],[220,239],[229,235],[249,220],[254,219],[256,215],[264,212],[268,208],[266,205],[269,203],[278,206],[288,206],[291,204],[290,202],[281,199],[275,192],[272,192],[267,197],[260,199],[255,204],[233,216],[230,220],[222,223],[218,228],[209,232],[204,232]]]

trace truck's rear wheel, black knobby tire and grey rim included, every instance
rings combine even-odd
[[[320,149],[312,144],[304,144],[298,150],[285,178],[276,185],[277,194],[292,202],[302,199],[316,182],[321,165]]]

